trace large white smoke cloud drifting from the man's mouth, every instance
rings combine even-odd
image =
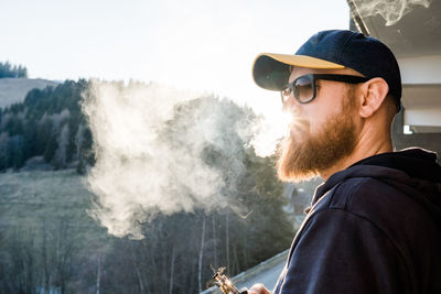
[[[141,239],[158,214],[232,205],[244,144],[275,141],[248,108],[157,84],[95,80],[83,111],[96,153],[88,213],[117,237]]]

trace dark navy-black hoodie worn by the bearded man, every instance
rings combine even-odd
[[[275,293],[441,293],[441,166],[383,153],[319,186]]]

